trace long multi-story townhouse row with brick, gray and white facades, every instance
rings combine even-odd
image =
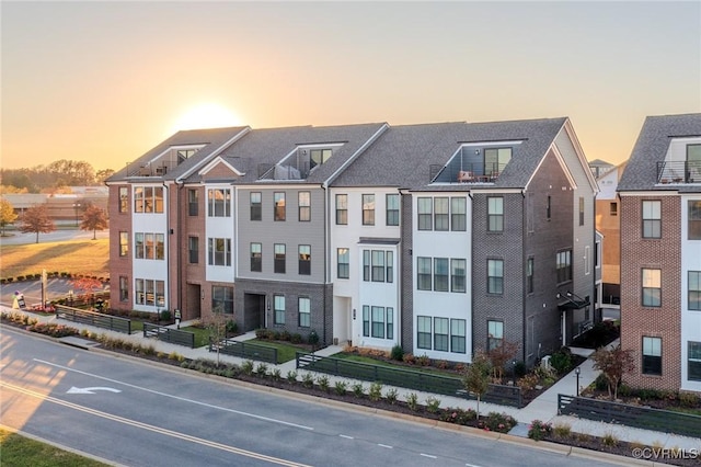
[[[181,132],[130,166],[108,180],[113,308],[461,362],[508,340],[529,364],[594,318],[567,118]]]

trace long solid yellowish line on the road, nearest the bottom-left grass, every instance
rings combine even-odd
[[[269,462],[269,463],[273,463],[273,464],[279,464],[279,465],[284,465],[284,466],[292,466],[292,467],[304,466],[304,464],[297,464],[295,462],[281,459],[279,457],[267,456],[265,454],[260,454],[260,453],[255,453],[253,451],[246,451],[246,449],[242,449],[242,448],[239,448],[239,447],[229,446],[229,445],[226,445],[226,444],[217,443],[215,441],[209,441],[209,440],[205,440],[205,438],[202,438],[202,437],[191,436],[191,435],[182,433],[182,432],[175,432],[175,431],[168,430],[168,429],[164,429],[164,428],[150,425],[148,423],[139,422],[139,421],[136,421],[136,420],[125,419],[124,417],[115,415],[115,414],[103,412],[103,411],[95,410],[95,409],[90,409],[88,407],[83,407],[83,406],[80,406],[80,405],[73,403],[73,402],[67,402],[65,400],[57,399],[57,398],[51,397],[51,396],[46,396],[46,395],[30,390],[30,389],[25,389],[25,388],[22,388],[20,386],[10,385],[10,384],[2,383],[2,381],[0,381],[0,386],[2,386],[4,388],[8,388],[10,390],[18,391],[20,394],[24,394],[24,395],[30,396],[30,397],[42,399],[42,400],[47,401],[47,402],[54,402],[54,403],[57,403],[59,406],[65,406],[65,407],[68,407],[70,409],[73,409],[73,410],[79,410],[81,412],[90,413],[90,414],[95,415],[95,417],[101,417],[103,419],[108,419],[108,420],[112,420],[112,421],[115,421],[115,422],[118,422],[118,423],[123,423],[123,424],[127,424],[127,425],[131,425],[131,426],[141,429],[141,430],[152,431],[154,433],[160,433],[160,434],[165,435],[165,436],[171,436],[171,437],[176,438],[177,441],[188,441],[191,443],[202,444],[203,446],[214,447],[216,449],[221,449],[221,451],[226,451],[226,452],[229,452],[229,453],[238,454],[238,455],[241,455],[241,456],[252,457],[252,458],[255,458],[255,459],[266,460],[266,462]]]

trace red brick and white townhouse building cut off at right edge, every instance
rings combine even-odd
[[[701,114],[647,117],[618,193],[624,380],[701,391]]]

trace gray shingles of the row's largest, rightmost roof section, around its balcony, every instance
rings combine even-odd
[[[493,123],[402,125],[387,130],[333,183],[333,186],[399,186],[411,190],[476,190],[479,185],[432,185],[430,166],[444,166],[467,143],[520,140],[489,187],[525,187],[566,118]]]

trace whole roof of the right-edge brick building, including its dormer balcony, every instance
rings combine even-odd
[[[697,176],[699,182],[693,182],[693,174],[685,170],[683,161],[667,160],[670,146],[676,140],[694,139],[701,141],[701,114],[646,117],[623,175],[618,183],[618,191],[701,192],[701,179]],[[671,164],[667,166],[669,162]],[[675,164],[679,166],[679,170]],[[668,178],[665,175],[666,173],[669,174]],[[680,183],[677,183],[677,175]]]

